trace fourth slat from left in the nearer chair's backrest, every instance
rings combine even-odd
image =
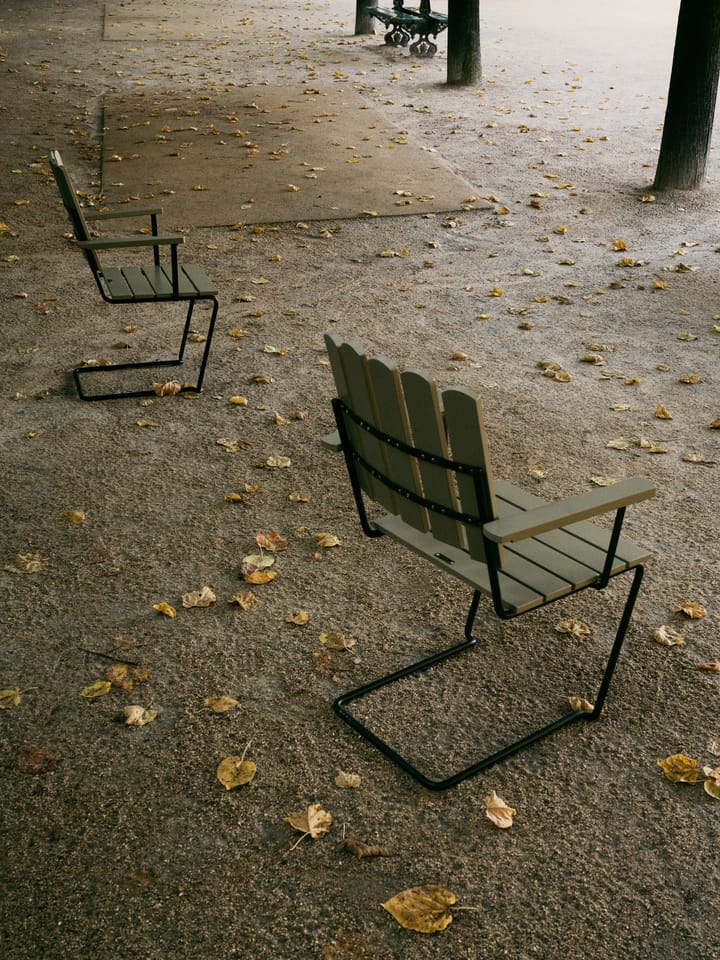
[[[400,377],[414,445],[447,458],[445,427],[435,382],[417,370],[405,370]],[[435,503],[457,510],[457,491],[450,471],[423,461],[418,467],[425,496]],[[430,511],[430,528],[438,540],[466,548],[464,529],[456,520]]]

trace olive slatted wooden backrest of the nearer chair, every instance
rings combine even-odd
[[[326,334],[338,397],[353,413],[402,444],[430,457],[480,468],[473,474],[417,458],[345,419],[350,443],[374,470],[358,466],[364,493],[405,523],[444,543],[485,559],[479,525],[427,509],[402,494],[486,523],[496,518],[492,472],[478,398],[463,387],[439,390],[417,370],[400,371],[383,358],[369,358],[360,344]],[[383,482],[382,475],[390,480]]]

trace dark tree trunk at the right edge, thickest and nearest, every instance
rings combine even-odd
[[[705,176],[720,75],[720,3],[682,0],[655,171],[656,190],[694,190]]]

